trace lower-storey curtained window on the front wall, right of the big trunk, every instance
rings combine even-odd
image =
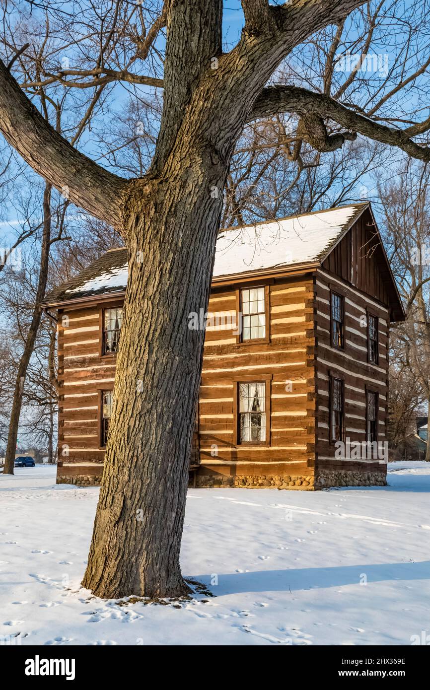
[[[239,442],[266,441],[266,383],[239,384]]]

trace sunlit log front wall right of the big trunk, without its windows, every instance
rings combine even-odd
[[[313,279],[284,278],[269,286],[270,342],[237,342],[235,287],[214,290],[209,302],[215,323],[204,345],[197,484],[281,486],[287,477],[291,487],[309,486],[315,463]],[[235,379],[247,375],[272,377],[266,384],[268,446],[235,444]]]

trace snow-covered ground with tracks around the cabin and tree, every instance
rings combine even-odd
[[[430,633],[424,462],[391,464],[384,487],[190,490],[182,570],[215,597],[180,608],[80,589],[99,490],[55,485],[55,467],[15,472],[0,475],[0,635],[22,644],[408,645]]]

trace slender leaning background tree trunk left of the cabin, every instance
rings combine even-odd
[[[28,363],[30,362],[30,357],[35,347],[37,331],[39,330],[39,324],[41,319],[41,311],[39,309],[39,304],[41,302],[41,299],[43,299],[43,297],[45,296],[46,292],[46,282],[48,280],[48,259],[51,231],[50,195],[51,185],[46,184],[45,189],[43,191],[43,235],[39,267],[39,282],[37,284],[35,308],[33,309],[30,328],[28,329],[23,353],[18,364],[18,371],[15,380],[14,395],[12,400],[12,410],[10,412],[8,445],[6,446],[6,456],[3,474],[14,473],[14,460],[15,453],[17,450],[19,416],[21,415],[24,383],[26,381]]]

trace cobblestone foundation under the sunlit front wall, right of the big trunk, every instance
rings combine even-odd
[[[238,489],[301,489],[313,491],[313,475],[204,475],[197,474],[197,487],[211,489],[213,486],[231,486]],[[193,482],[190,482],[193,486]]]

